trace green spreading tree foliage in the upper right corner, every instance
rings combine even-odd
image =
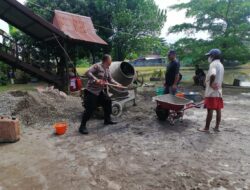
[[[195,34],[208,31],[209,40],[184,38],[176,42],[178,52],[199,63],[211,48],[220,48],[226,60],[245,63],[250,59],[250,1],[249,0],[191,0],[171,7],[186,10],[194,23],[184,23],[170,28],[170,33]]]

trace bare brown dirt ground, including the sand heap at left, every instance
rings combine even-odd
[[[210,134],[197,131],[204,109],[175,126],[159,122],[153,95],[141,91],[117,125],[92,119],[82,136],[79,98],[1,94],[0,114],[20,118],[22,136],[0,145],[0,190],[250,189],[250,93],[225,89],[222,132]],[[53,134],[57,121],[69,123],[63,136]]]

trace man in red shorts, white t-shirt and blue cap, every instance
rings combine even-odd
[[[209,70],[206,77],[205,107],[207,108],[207,119],[205,128],[199,129],[201,132],[208,132],[213,118],[213,111],[216,111],[216,126],[214,131],[219,132],[221,122],[221,109],[223,109],[222,83],[224,78],[224,67],[221,63],[221,51],[212,49],[208,56]]]

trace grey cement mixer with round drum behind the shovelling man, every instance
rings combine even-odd
[[[126,104],[132,102],[133,106],[136,105],[137,87],[143,85],[144,79],[143,76],[139,79],[138,73],[136,74],[134,67],[128,62],[113,62],[110,67],[110,72],[114,80],[124,86],[128,86],[127,90],[112,86],[108,87],[108,94],[112,100],[112,116],[119,117]],[[87,81],[86,76],[84,78],[86,79],[85,81]],[[84,82],[84,84],[86,84],[86,82]],[[84,106],[83,95],[84,90],[82,91],[82,104]]]

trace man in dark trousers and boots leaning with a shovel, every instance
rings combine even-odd
[[[89,80],[84,92],[85,111],[79,128],[79,132],[81,134],[88,134],[86,123],[98,105],[101,105],[104,110],[104,124],[116,124],[116,122],[113,122],[110,117],[112,113],[112,102],[107,94],[107,83],[118,86],[121,86],[121,84],[116,82],[110,74],[109,66],[111,63],[111,56],[106,54],[102,58],[102,63],[94,64],[86,72]]]

